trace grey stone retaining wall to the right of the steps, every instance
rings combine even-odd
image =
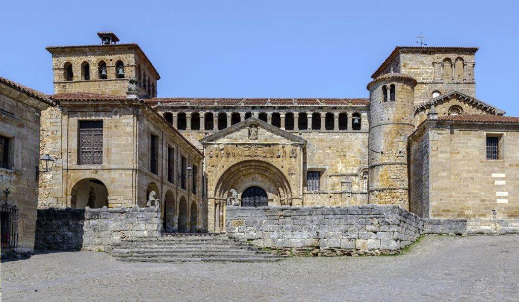
[[[422,233],[417,215],[394,205],[226,209],[227,234],[278,253],[395,254]]]

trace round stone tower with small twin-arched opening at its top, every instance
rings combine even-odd
[[[407,135],[414,130],[416,80],[392,71],[367,84],[370,91],[368,202],[409,209]]]

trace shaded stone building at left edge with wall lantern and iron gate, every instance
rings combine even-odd
[[[34,249],[40,112],[51,105],[44,94],[0,78],[0,206],[7,199],[8,207],[18,211],[11,215],[2,207],[2,254]],[[10,194],[4,195],[5,190]],[[10,245],[16,236],[18,244]]]

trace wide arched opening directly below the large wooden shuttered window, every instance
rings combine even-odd
[[[71,208],[99,209],[108,206],[108,189],[98,179],[88,178],[78,181],[71,190]]]

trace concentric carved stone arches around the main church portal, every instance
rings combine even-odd
[[[231,189],[241,194],[257,186],[267,193],[273,205],[289,204],[292,198],[290,183],[276,166],[260,160],[242,161],[223,172],[214,189],[214,197],[225,199]]]

